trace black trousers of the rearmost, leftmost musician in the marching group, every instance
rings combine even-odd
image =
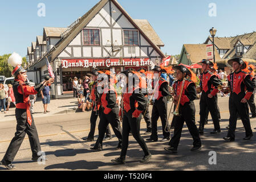
[[[97,118],[100,117],[100,114],[102,114],[102,111],[103,111],[102,107],[100,106],[98,114],[96,114],[96,111],[94,111],[94,107],[92,108],[92,113],[91,113],[91,118],[90,118],[91,129],[90,129],[90,133],[88,134],[88,138],[90,138],[90,139],[94,139],[96,121],[97,121]],[[107,126],[107,129],[106,129],[106,136],[107,137],[112,136],[111,130],[109,129],[109,125]]]

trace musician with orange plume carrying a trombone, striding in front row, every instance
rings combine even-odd
[[[164,149],[172,153],[177,153],[178,143],[180,143],[181,132],[185,121],[194,140],[191,151],[198,151],[201,150],[201,139],[195,124],[196,107],[194,106],[194,100],[197,98],[195,84],[195,82],[197,82],[196,75],[183,65],[178,65],[173,69],[177,73],[177,81],[174,82],[173,85],[174,92],[176,93],[174,96],[174,104],[177,106],[179,100],[178,96],[181,96],[180,107],[178,109],[179,115],[174,115],[174,135],[169,142],[170,147],[165,147]],[[188,76],[193,81],[188,80]],[[184,86],[183,88],[182,85]]]

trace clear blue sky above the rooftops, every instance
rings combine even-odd
[[[209,29],[217,36],[235,36],[256,31],[255,0],[118,0],[133,19],[148,19],[169,55],[180,54],[182,44],[204,43]],[[17,52],[43,35],[43,27],[67,27],[99,0],[9,0],[0,1],[0,55]],[[39,17],[38,3],[46,5],[46,17]],[[208,7],[216,3],[217,16]]]

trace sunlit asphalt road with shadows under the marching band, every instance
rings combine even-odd
[[[196,121],[199,121],[199,101],[196,104]],[[140,171],[140,170],[255,170],[256,164],[256,134],[251,140],[242,140],[245,137],[241,120],[238,121],[235,142],[225,143],[222,137],[227,134],[225,127],[228,125],[228,97],[219,98],[221,111],[222,133],[211,135],[213,130],[212,122],[206,126],[205,135],[201,137],[203,148],[198,152],[191,152],[192,137],[186,127],[182,131],[178,154],[168,154],[164,150],[168,142],[147,142],[152,153],[152,159],[147,164],[139,163],[143,158],[143,151],[139,144],[129,137],[127,152],[127,164],[115,166],[111,159],[120,155],[120,150],[115,150],[117,138],[104,142],[103,151],[92,152],[90,147],[95,142],[84,142],[90,131],[90,113],[62,114],[51,117],[36,118],[35,123],[38,129],[42,150],[46,153],[48,161],[45,164],[31,162],[31,150],[27,137],[22,143],[17,156],[15,157],[15,170],[24,171],[50,171],[50,170],[106,170],[106,171]],[[170,104],[169,104],[170,106]],[[169,107],[170,108],[170,107]],[[150,109],[151,111],[151,109]],[[209,117],[210,118],[210,117]],[[170,119],[171,121],[171,119]],[[251,120],[251,126],[255,133],[256,119]],[[10,140],[14,137],[16,123],[13,121],[0,122],[0,159],[5,155]],[[145,132],[146,124],[141,121],[141,133]],[[95,132],[97,138],[97,130]],[[113,137],[115,136],[112,132]],[[171,131],[173,134],[173,131]],[[143,135],[148,138],[149,135]],[[161,135],[161,122],[159,121],[159,138]],[[216,154],[216,164],[214,155]],[[0,166],[0,170],[5,170]]]

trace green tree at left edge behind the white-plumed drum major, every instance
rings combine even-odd
[[[11,72],[13,71],[13,66],[8,64],[8,59],[11,54],[5,54],[0,56],[0,75],[5,77],[11,77]],[[22,67],[24,68],[26,62],[26,57],[22,58]]]

